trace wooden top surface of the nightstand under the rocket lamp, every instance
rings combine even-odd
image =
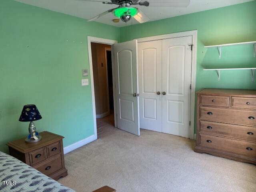
[[[40,140],[39,142],[36,142],[36,143],[26,143],[25,138],[22,138],[22,139],[8,142],[6,145],[8,145],[9,147],[12,147],[22,153],[26,153],[26,152],[29,152],[32,150],[42,148],[46,145],[52,144],[52,143],[57,142],[58,140],[62,140],[64,138],[63,136],[60,136],[60,135],[57,135],[54,133],[50,133],[48,131],[40,132],[39,135],[42,136],[42,140]]]

